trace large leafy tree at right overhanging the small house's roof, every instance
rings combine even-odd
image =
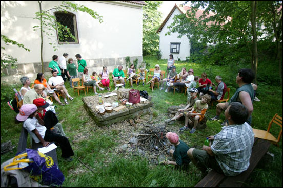
[[[186,1],[188,2],[188,1]],[[191,1],[192,8],[186,14],[174,17],[170,32],[186,35],[192,41],[230,45],[239,51],[238,46],[246,46],[250,54],[251,68],[257,75],[257,40],[264,37],[260,26],[264,19],[259,1]],[[205,8],[203,15],[196,19],[195,13]],[[212,12],[213,16],[208,16]],[[226,51],[226,50],[225,50]],[[227,52],[227,51],[226,51]],[[256,78],[255,78],[256,82]]]

